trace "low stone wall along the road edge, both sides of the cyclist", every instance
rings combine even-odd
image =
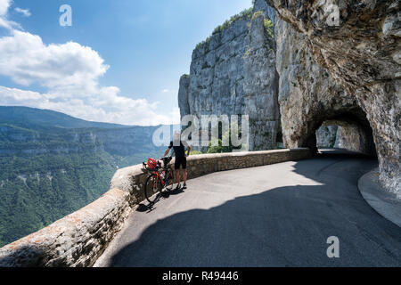
[[[189,179],[217,171],[307,159],[308,149],[195,155]],[[172,161],[174,163],[174,161]],[[131,209],[144,199],[142,166],[119,169],[110,191],[92,204],[0,248],[0,266],[91,266],[120,231]]]

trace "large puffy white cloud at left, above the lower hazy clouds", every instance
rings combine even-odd
[[[90,47],[69,42],[44,45],[41,37],[13,29],[0,38],[0,74],[20,85],[90,89],[109,66]]]

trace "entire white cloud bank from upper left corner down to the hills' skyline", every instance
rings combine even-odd
[[[45,45],[41,37],[12,28],[15,24],[6,18],[10,4],[9,0],[0,0],[0,27],[10,30],[9,36],[0,37],[0,75],[27,88],[42,85],[47,91],[40,94],[0,86],[1,105],[57,110],[87,120],[126,125],[179,122],[178,110],[160,114],[158,102],[128,98],[120,95],[116,86],[99,85],[99,77],[109,66],[91,47],[74,42]]]

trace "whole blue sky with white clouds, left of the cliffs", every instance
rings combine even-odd
[[[61,27],[61,4],[72,27]],[[0,105],[177,123],[192,50],[251,0],[0,0]]]

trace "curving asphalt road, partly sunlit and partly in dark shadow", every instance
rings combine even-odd
[[[326,154],[193,179],[135,211],[95,266],[401,266],[401,228],[356,186],[374,167]]]

